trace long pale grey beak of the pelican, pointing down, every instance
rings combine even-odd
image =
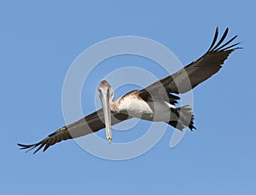
[[[107,90],[106,93],[102,93],[102,96],[100,96],[100,99],[102,101],[102,109],[105,119],[105,126],[106,126],[106,137],[108,139],[109,144],[112,141],[112,131],[111,131],[111,111],[109,107],[109,90]]]

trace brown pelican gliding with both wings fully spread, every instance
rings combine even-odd
[[[217,27],[210,48],[201,58],[188,66],[184,66],[171,76],[162,78],[145,89],[133,90],[114,102],[111,85],[108,81],[102,81],[97,89],[102,102],[102,109],[79,119],[77,122],[57,129],[43,141],[32,145],[18,144],[18,146],[20,149],[29,150],[38,147],[35,152],[44,147],[43,151],[45,151],[57,142],[88,135],[104,128],[106,128],[106,136],[110,143],[112,141],[111,125],[129,118],[165,122],[179,130],[187,127],[191,130],[195,129],[191,108],[188,105],[175,107],[179,97],[173,94],[186,93],[207,78],[212,77],[222,67],[224,60],[230,53],[236,49],[241,49],[236,47],[239,43],[230,45],[237,36],[224,43],[228,31],[229,28],[226,28],[223,36],[216,43],[218,39]]]

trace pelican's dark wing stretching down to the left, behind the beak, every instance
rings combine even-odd
[[[126,114],[113,113],[111,123],[114,125],[129,118],[131,117],[128,117]],[[20,146],[20,149],[28,149],[28,151],[38,147],[34,153],[38,152],[42,147],[44,147],[43,151],[45,151],[49,146],[55,145],[55,143],[60,141],[88,135],[105,128],[105,123],[103,122],[103,112],[102,109],[100,109],[97,112],[91,113],[85,118],[81,118],[77,122],[71,123],[65,127],[62,127],[61,129],[57,129],[53,134],[48,135],[48,137],[46,137],[43,141],[39,141],[38,143],[32,145],[18,144],[18,146]]]

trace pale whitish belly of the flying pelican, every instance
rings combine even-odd
[[[148,105],[149,104],[149,105]],[[168,122],[171,118],[171,108],[166,102],[145,102],[134,98],[125,98],[119,105],[119,112],[125,112],[133,118],[142,118],[149,121]]]

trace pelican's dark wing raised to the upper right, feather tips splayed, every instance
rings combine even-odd
[[[195,86],[204,82],[207,78],[212,77],[212,75],[218,72],[222,67],[224,60],[228,58],[230,53],[236,49],[241,49],[236,47],[239,43],[229,45],[237,36],[232,37],[229,41],[224,43],[228,32],[229,28],[226,28],[223,36],[219,39],[218,43],[216,43],[218,38],[217,27],[212,44],[206,54],[171,76],[162,78],[160,81],[149,85],[146,89],[142,89],[140,95],[143,98],[146,98],[148,93],[151,96],[160,96],[163,94],[163,89],[166,90],[165,93],[167,94],[183,94],[195,88]],[[177,100],[177,98],[173,97],[173,103],[175,103],[175,100]]]

